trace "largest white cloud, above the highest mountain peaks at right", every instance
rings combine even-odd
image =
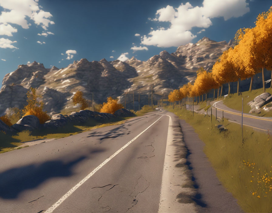
[[[141,37],[141,44],[158,47],[178,47],[187,44],[196,38],[192,34],[193,27],[208,28],[213,23],[210,18],[224,17],[228,20],[232,17],[240,17],[249,11],[246,0],[203,0],[203,6],[193,7],[189,2],[181,4],[178,8],[167,5],[157,10],[157,18],[151,21],[170,22],[167,29],[158,28],[148,35]],[[199,32],[200,33],[200,32]]]

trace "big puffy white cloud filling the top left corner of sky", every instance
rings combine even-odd
[[[36,25],[41,25],[43,29],[54,24],[49,18],[52,15],[39,8],[38,1],[34,0],[0,0],[0,5],[4,9],[0,14],[0,34],[12,36],[17,29],[13,25],[19,25],[24,29],[31,26],[29,19],[33,20]]]

